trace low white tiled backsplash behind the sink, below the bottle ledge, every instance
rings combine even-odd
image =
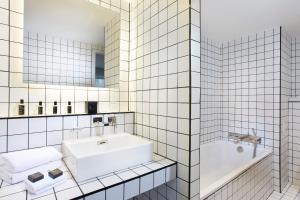
[[[93,118],[112,115],[117,120],[115,129],[102,125],[101,133],[133,133],[134,113],[0,119],[0,153],[43,146],[60,148],[62,140],[95,136]]]

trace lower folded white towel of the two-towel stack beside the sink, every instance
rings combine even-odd
[[[47,172],[48,170],[53,170],[61,166],[62,166],[62,161],[58,160],[18,173],[11,173],[7,171],[5,168],[1,168],[0,166],[0,178],[9,184],[15,184],[26,180],[28,178],[28,175],[30,174],[34,174],[36,172]]]

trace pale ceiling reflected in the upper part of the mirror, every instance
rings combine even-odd
[[[87,0],[25,0],[25,31],[104,45],[104,26],[117,12]]]

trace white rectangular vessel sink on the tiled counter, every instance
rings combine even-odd
[[[100,141],[106,140],[106,143]],[[64,160],[77,181],[150,162],[152,142],[128,133],[63,141]]]

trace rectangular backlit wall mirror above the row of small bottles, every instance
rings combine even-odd
[[[119,84],[120,16],[86,0],[26,0],[23,81]]]

